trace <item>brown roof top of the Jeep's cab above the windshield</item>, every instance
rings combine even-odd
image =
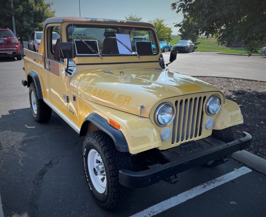
[[[129,20],[114,20],[114,19],[101,19],[101,18],[87,18],[87,17],[51,17],[44,21],[44,26],[49,23],[64,23],[70,22],[72,23],[101,23],[101,24],[125,24],[125,25],[132,25],[132,26],[147,26],[153,27],[154,26],[147,22],[140,22],[140,21],[129,21]]]

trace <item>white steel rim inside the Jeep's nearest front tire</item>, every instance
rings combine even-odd
[[[106,189],[106,173],[102,158],[94,149],[91,149],[88,154],[88,169],[93,186],[99,193],[104,193]]]

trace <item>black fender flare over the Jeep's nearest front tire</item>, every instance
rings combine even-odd
[[[109,135],[113,139],[115,147],[119,152],[129,152],[124,134],[110,125],[105,118],[96,113],[92,113],[85,118],[80,128],[80,137],[85,136],[89,122],[92,122],[99,129]]]

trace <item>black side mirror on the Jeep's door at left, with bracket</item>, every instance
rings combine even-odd
[[[76,51],[74,50],[74,45],[72,42],[59,42],[58,47],[59,47],[59,57],[67,60],[65,72],[68,73],[69,75],[72,75],[71,72],[73,72],[73,70],[68,69],[68,67],[69,67],[69,59],[73,59],[76,57]]]

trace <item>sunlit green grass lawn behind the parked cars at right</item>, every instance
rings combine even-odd
[[[173,38],[170,44],[172,44],[173,46],[179,40],[180,38]],[[221,53],[247,54],[245,48],[242,48],[242,47],[223,47],[223,46],[214,44],[214,42],[216,42],[215,39],[198,39],[198,42],[200,42],[200,44],[198,45],[197,50],[200,50],[200,51],[221,51]],[[260,52],[260,50],[259,50],[259,53],[257,54],[263,55]]]

